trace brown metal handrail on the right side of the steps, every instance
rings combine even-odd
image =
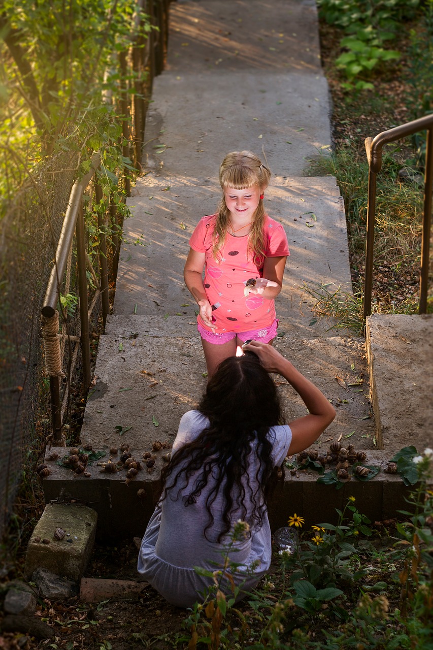
[[[433,190],[433,115],[426,115],[413,122],[382,131],[374,138],[365,138],[365,150],[369,162],[369,189],[367,203],[367,242],[365,252],[364,310],[363,317],[371,315],[371,293],[373,285],[374,222],[376,211],[376,179],[382,168],[382,147],[413,133],[427,131],[423,235],[421,241],[421,277],[419,281],[419,313],[427,311],[428,258],[430,248],[430,224]]]

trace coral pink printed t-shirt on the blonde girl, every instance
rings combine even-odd
[[[244,296],[248,279],[263,278],[263,268],[248,259],[248,235],[234,237],[227,234],[224,247],[219,251],[222,259],[217,261],[212,253],[212,233],[216,220],[216,214],[203,216],[189,240],[191,248],[205,253],[203,283],[207,300],[212,305],[217,325],[215,331],[241,332],[269,327],[275,320],[274,300],[267,300],[259,294]],[[267,235],[266,256],[290,255],[283,226],[266,216],[264,229]],[[201,326],[212,331],[198,318]]]

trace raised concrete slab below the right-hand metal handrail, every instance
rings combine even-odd
[[[366,335],[379,447],[433,447],[433,315],[374,314]]]

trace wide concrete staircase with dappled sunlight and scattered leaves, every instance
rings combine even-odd
[[[273,172],[265,207],[284,225],[291,249],[276,305],[276,345],[337,406],[317,447],[347,438],[383,469],[399,448],[427,446],[432,318],[373,317],[366,350],[364,339],[318,319],[305,290],[320,283],[352,290],[339,188],[334,177],[306,175],[309,159],[330,150],[329,114],[313,1],[172,3],[167,66],[155,80],[143,173],[128,201],[133,216],[124,224],[114,312],[99,342],[83,445],[108,454],[125,441],[141,458],[154,441],[170,442],[181,415],[196,404],[206,379],[196,305],[182,277],[188,240],[200,217],[215,212],[224,155],[251,149]],[[304,407],[288,388],[279,389],[290,420]],[[104,536],[141,535],[159,491],[163,452],[129,484],[124,472],[103,473],[96,463],[88,478],[56,465],[44,480],[46,499],[60,495],[95,508]],[[318,485],[314,472],[287,474],[270,509],[273,526],[293,512],[307,523],[331,521],[348,495],[359,496],[372,519],[404,506],[398,476],[380,472],[335,491]]]

